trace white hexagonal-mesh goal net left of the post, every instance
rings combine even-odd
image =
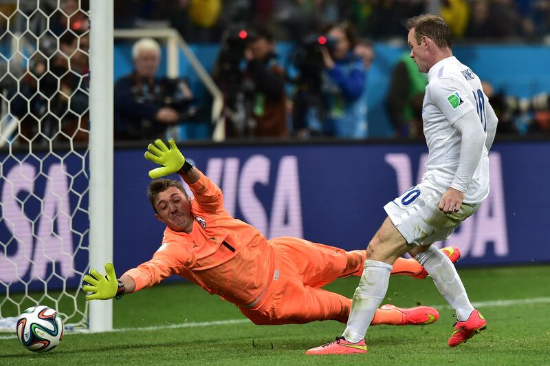
[[[88,327],[89,29],[89,1],[0,2],[3,330],[38,304]]]

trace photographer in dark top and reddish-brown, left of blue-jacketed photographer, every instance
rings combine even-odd
[[[255,30],[248,47],[245,78],[251,82],[250,107],[256,137],[288,136],[285,110],[285,70],[278,65],[274,37],[265,28]]]

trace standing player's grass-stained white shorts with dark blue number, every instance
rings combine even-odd
[[[443,192],[437,186],[423,180],[388,202],[384,210],[408,244],[430,245],[448,239],[454,229],[479,207],[479,204],[463,203],[459,212],[445,215],[439,211],[441,197]]]

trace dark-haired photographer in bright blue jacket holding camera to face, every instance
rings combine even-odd
[[[338,138],[366,138],[366,104],[362,98],[366,69],[353,52],[355,31],[346,22],[325,28],[327,47],[320,46],[325,72],[322,94],[327,106],[327,132]]]

